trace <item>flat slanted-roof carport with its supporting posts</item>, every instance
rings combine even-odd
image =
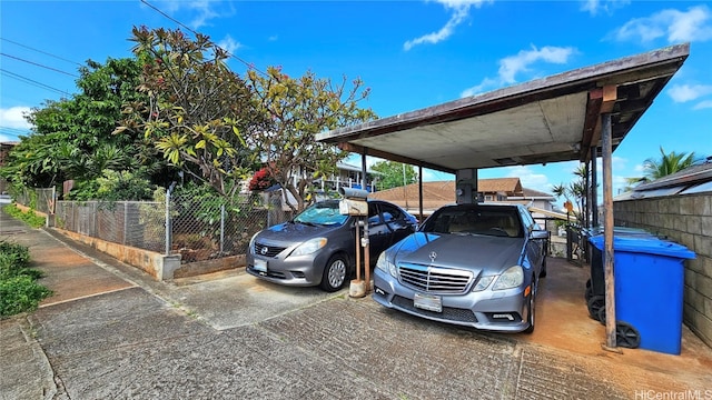
[[[476,202],[477,170],[577,160],[590,166],[584,224],[599,226],[596,158],[603,161],[606,344],[616,347],[613,151],[682,67],[689,43],[317,136],[366,156],[455,174],[457,202]],[[422,181],[421,181],[422,183]],[[421,213],[422,192],[421,192]]]

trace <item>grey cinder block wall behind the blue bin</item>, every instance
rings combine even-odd
[[[685,261],[684,323],[712,347],[712,193],[613,203],[615,226],[643,228],[694,251]]]

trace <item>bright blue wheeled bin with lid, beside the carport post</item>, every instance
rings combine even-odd
[[[589,241],[603,257],[603,234]],[[640,348],[680,354],[684,261],[682,244],[647,236],[613,236],[615,319],[635,328]]]

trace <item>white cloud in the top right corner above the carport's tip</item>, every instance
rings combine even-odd
[[[712,13],[705,6],[691,7],[688,11],[662,10],[650,17],[636,18],[612,32],[619,41],[641,40],[650,42],[665,38],[668,42],[705,41],[712,39]]]

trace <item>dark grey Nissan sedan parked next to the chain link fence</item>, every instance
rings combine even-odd
[[[417,228],[415,217],[380,200],[368,200],[367,222],[372,266],[383,250]],[[339,290],[355,271],[355,223],[356,217],[339,213],[338,200],[317,202],[253,237],[247,273],[285,286]]]

